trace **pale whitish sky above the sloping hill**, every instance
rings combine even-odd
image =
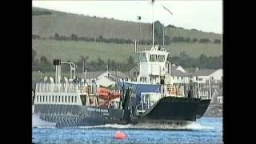
[[[152,5],[144,1],[34,1],[32,6],[114,18],[132,22],[152,22]],[[170,14],[162,6],[171,11]],[[138,20],[141,16],[141,20]],[[165,0],[154,2],[154,21],[222,34],[222,0]]]

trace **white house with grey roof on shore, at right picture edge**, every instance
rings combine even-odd
[[[191,74],[193,77],[193,81],[198,81],[200,83],[206,83],[207,80],[211,80],[214,82],[220,82],[222,81],[222,69],[218,70],[208,70],[208,69],[202,69],[202,70],[195,70],[193,74]]]

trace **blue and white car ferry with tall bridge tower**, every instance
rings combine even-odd
[[[152,6],[153,6],[152,2]],[[117,78],[116,90],[97,86],[76,77],[73,62],[54,59],[55,77],[38,82],[33,90],[32,113],[57,127],[95,126],[105,124],[168,123],[186,124],[201,118],[210,104],[208,96],[199,95],[199,82],[188,74],[182,82],[174,82],[172,62],[165,46],[154,45],[137,52],[138,77],[131,82]],[[62,78],[62,65],[70,65],[70,78]]]

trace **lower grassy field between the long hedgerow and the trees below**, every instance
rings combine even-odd
[[[33,39],[32,47],[37,51],[36,58],[46,56],[50,61],[54,58],[71,60],[76,62],[80,56],[89,56],[91,60],[107,60],[108,58],[116,62],[127,62],[130,55],[134,55],[134,46],[129,44],[113,44],[102,42],[74,42],[55,41],[50,39]],[[150,46],[147,46],[150,48]],[[138,50],[145,50],[146,46],[138,45]],[[186,44],[175,43],[168,45],[167,50],[170,56],[175,56],[185,51],[190,57],[198,58],[200,54],[206,56],[222,55],[221,44]]]

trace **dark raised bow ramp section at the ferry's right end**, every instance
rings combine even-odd
[[[134,118],[134,122],[189,122],[196,121],[206,112],[209,100],[200,98],[171,98],[160,99],[154,106]]]

